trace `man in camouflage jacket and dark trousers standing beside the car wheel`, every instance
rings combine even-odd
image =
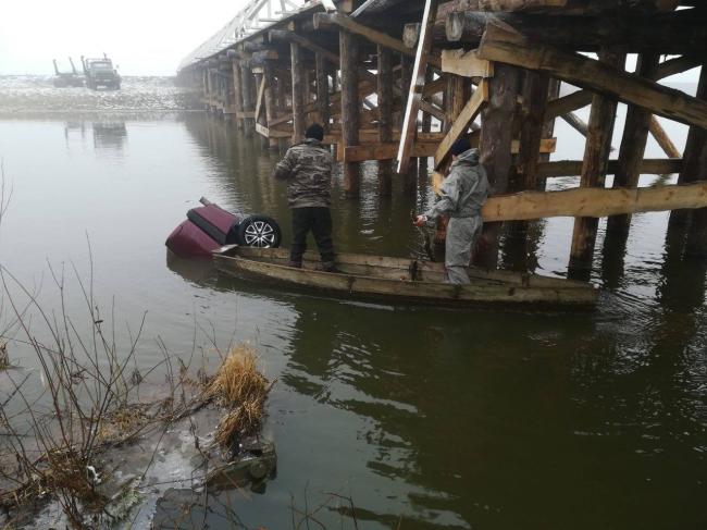
[[[275,167],[275,178],[287,181],[287,197],[293,212],[293,244],[289,266],[301,268],[307,234],[312,231],[322,258],[322,270],[334,272],[332,242],[332,155],[322,145],[324,130],[314,123],[306,139],[292,146]]]

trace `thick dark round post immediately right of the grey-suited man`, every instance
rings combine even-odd
[[[489,84],[489,99],[481,113],[481,163],[486,170],[492,193],[503,194],[508,189],[508,176],[512,167],[510,124],[513,123],[519,94],[519,71],[516,66],[497,63]],[[498,236],[500,223],[486,223],[474,262],[495,269],[498,264]]]

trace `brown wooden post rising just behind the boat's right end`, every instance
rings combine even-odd
[[[625,63],[625,54],[603,50],[599,61],[609,66],[621,69]],[[616,121],[617,100],[596,95],[592,101],[588,134],[584,148],[581,186],[603,187],[606,180],[609,155],[611,152],[611,135]],[[598,219],[575,218],[570,251],[570,275],[586,279],[592,268],[594,245]]]

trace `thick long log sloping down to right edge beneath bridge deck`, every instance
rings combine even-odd
[[[530,45],[519,34],[495,24],[488,26],[479,56],[492,61],[542,70],[568,83],[618,98],[625,103],[644,107],[670,120],[707,128],[705,101],[579,53]]]

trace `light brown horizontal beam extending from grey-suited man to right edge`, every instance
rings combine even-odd
[[[604,218],[646,211],[707,207],[707,182],[641,188],[572,188],[562,192],[521,192],[489,197],[484,222],[555,217]]]

